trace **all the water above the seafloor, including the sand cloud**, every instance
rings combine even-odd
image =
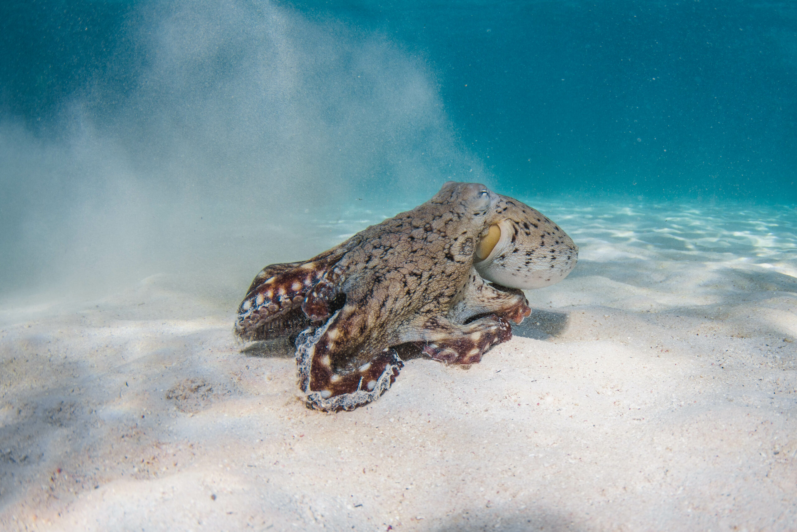
[[[790,2],[46,1],[0,20],[3,291],[238,282],[265,250],[317,251],[305,214],[392,215],[447,179],[532,204],[797,202]]]

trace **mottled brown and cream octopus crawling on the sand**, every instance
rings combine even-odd
[[[556,223],[480,183],[432,199],[331,250],[265,266],[238,307],[242,341],[288,338],[308,408],[353,410],[407,357],[470,365],[531,314],[523,290],[561,281],[578,247]]]

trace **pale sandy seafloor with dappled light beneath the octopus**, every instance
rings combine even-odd
[[[797,529],[797,213],[529,203],[576,269],[481,364],[408,361],[355,412],[234,341],[267,243],[225,297],[6,301],[0,529]]]

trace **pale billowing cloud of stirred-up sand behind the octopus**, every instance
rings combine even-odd
[[[319,211],[486,179],[434,77],[383,36],[269,2],[175,2],[132,20],[117,43],[140,58],[120,63],[137,65],[130,86],[109,89],[108,65],[54,131],[0,124],[6,294],[161,271],[239,283],[318,251],[303,235]]]

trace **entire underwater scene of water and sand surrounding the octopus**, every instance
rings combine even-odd
[[[0,30],[0,530],[797,530],[797,3],[6,0]],[[449,179],[575,269],[479,364],[308,410],[289,340],[234,337],[246,287]]]

